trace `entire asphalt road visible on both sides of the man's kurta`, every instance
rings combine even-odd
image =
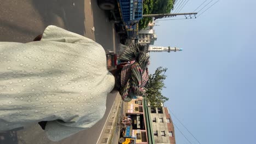
[[[116,51],[119,39],[107,13],[100,10],[96,0],[1,0],[0,41],[27,43],[43,33],[48,25],[75,32],[101,44],[105,50]],[[19,131],[0,133],[0,143],[96,143],[115,93],[107,98],[106,113],[94,127],[59,142],[49,141],[39,125]]]

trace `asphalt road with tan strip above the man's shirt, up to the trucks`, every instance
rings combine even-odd
[[[2,0],[0,41],[27,43],[43,33],[46,26],[55,25],[113,50],[119,40],[107,15],[96,0]]]

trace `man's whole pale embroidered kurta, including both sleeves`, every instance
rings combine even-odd
[[[51,121],[59,141],[97,123],[113,87],[103,47],[82,35],[49,26],[41,41],[0,42],[0,131]]]

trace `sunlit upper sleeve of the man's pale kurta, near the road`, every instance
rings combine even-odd
[[[63,28],[56,26],[48,26],[45,28],[43,37],[41,41],[59,41],[64,43],[75,43],[75,44],[86,44],[86,43],[95,43],[94,40],[86,38],[82,35],[69,32]]]

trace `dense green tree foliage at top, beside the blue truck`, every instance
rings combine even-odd
[[[166,14],[173,8],[173,0],[144,0],[143,14]],[[153,21],[152,17],[144,17],[139,21],[139,29],[146,28]]]

